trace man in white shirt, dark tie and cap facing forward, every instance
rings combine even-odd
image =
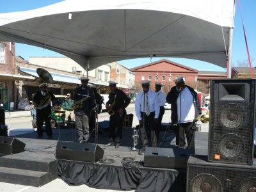
[[[143,148],[140,154],[143,154],[148,146],[148,134],[150,135],[151,147],[157,146],[156,123],[159,116],[159,102],[157,94],[149,89],[150,81],[142,81],[142,91],[136,95],[135,113],[140,122],[141,141]]]

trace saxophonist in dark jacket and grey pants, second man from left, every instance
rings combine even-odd
[[[92,110],[95,108],[95,99],[93,91],[88,87],[88,77],[81,77],[81,86],[78,86],[75,90],[74,100],[79,102],[79,100],[84,99],[81,103],[81,108],[75,109],[76,115],[76,128],[79,135],[79,143],[88,143],[89,140],[89,118],[92,116]],[[87,98],[87,99],[85,99]]]

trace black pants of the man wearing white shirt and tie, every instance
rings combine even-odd
[[[143,120],[143,126],[141,127],[141,142],[143,148],[149,146],[148,138],[150,137],[150,147],[157,147],[157,139],[156,139],[156,123],[154,122],[155,112],[150,113],[148,116],[141,112],[141,117]]]

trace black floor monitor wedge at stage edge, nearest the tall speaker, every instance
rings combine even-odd
[[[195,150],[183,148],[146,147],[144,166],[186,169],[188,158],[191,154],[195,154]]]

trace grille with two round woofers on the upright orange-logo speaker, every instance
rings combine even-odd
[[[209,132],[209,160],[248,164],[252,156],[253,104],[220,101],[214,104]]]

